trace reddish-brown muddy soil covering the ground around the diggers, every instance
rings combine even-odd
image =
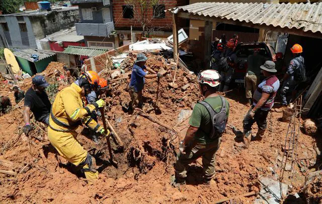
[[[156,57],[158,58],[158,57]],[[188,120],[178,124],[177,117],[181,110],[191,110],[201,99],[195,76],[178,70],[177,89],[169,87],[174,70],[164,66],[162,61],[153,69],[160,67],[170,70],[170,74],[160,79],[147,79],[144,88],[145,114],[160,123],[174,127],[169,130],[151,122],[143,116],[129,115],[122,110],[128,104],[129,80],[120,80],[110,86],[107,101],[107,115],[118,135],[123,140],[124,151],[118,151],[112,140],[115,160],[118,168],[108,164],[108,151],[104,138],[95,145],[90,139],[80,134],[77,138],[96,158],[100,178],[94,185],[88,185],[84,175],[62,159],[46,140],[46,135],[34,130],[32,133],[32,155],[28,142],[21,135],[22,115],[14,110],[0,118],[0,160],[14,162],[13,166],[0,164],[0,169],[13,170],[18,174],[9,176],[0,174],[0,202],[54,202],[54,203],[212,203],[214,200],[259,190],[261,176],[276,177],[280,173],[277,156],[282,155],[282,146],[288,123],[280,122],[282,113],[272,112],[268,117],[268,131],[262,141],[252,141],[248,149],[236,147],[234,136],[237,134],[229,127],[223,134],[220,149],[216,157],[215,182],[210,186],[202,183],[202,167],[193,163],[188,167],[187,185],[177,189],[171,186],[175,151],[188,128]],[[154,58],[153,58],[154,59]],[[152,59],[152,60],[153,60]],[[130,60],[131,61],[131,60]],[[149,64],[149,63],[147,63]],[[107,76],[107,75],[104,75]],[[187,90],[182,87],[190,83]],[[25,89],[29,87],[24,87]],[[158,100],[156,96],[158,90]],[[3,91],[3,90],[1,90]],[[4,90],[8,92],[8,89]],[[3,92],[1,92],[3,93]],[[237,100],[244,97],[239,91],[229,93],[230,116],[228,125],[243,129],[243,118],[248,107]],[[78,131],[81,132],[82,128]],[[257,132],[254,125],[253,135]],[[42,135],[43,141],[34,136]],[[41,138],[40,138],[41,139]],[[169,142],[169,144],[168,144]],[[312,148],[314,138],[300,135],[298,145],[299,161],[295,165],[293,186],[299,190],[304,183],[307,168],[315,162],[316,154]],[[44,152],[45,157],[42,156]],[[274,169],[273,173],[270,167]],[[300,171],[300,167],[304,170]],[[290,171],[284,174],[283,182],[290,184]],[[240,198],[236,203],[252,202],[256,196]]]

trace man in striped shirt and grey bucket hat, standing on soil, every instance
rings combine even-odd
[[[266,61],[261,66],[266,79],[260,83],[254,93],[253,105],[244,118],[244,143],[246,147],[252,139],[252,126],[256,122],[258,132],[255,140],[261,140],[264,137],[267,127],[267,115],[274,105],[276,93],[280,87],[280,81],[275,76],[277,70],[273,61]]]

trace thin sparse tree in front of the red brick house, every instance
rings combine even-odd
[[[151,29],[147,29],[153,18],[157,18],[160,12],[154,10],[160,4],[160,0],[125,0],[125,4],[133,7],[133,19],[142,27],[142,34]],[[149,14],[153,14],[152,17]]]

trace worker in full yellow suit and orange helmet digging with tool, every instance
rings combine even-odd
[[[97,133],[105,135],[104,128],[91,118],[91,113],[105,106],[100,99],[84,107],[82,98],[92,90],[96,90],[99,76],[94,71],[88,71],[78,77],[78,85],[61,90],[50,112],[48,139],[58,153],[75,166],[82,166],[89,184],[98,178],[98,171],[93,168],[93,157],[76,140],[75,131],[81,123]],[[109,131],[108,131],[109,134]]]

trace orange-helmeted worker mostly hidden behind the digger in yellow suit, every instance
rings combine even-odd
[[[107,85],[106,79],[100,78],[97,91],[93,90],[91,93],[89,93],[89,95],[86,96],[86,100],[87,100],[88,104],[95,104],[95,102],[98,100],[98,97],[103,95],[107,91],[108,88],[109,88],[109,86]],[[91,117],[96,122],[98,121],[98,119],[97,119],[98,116],[99,117],[102,116],[102,114],[99,110],[93,111],[91,114]],[[91,137],[95,143],[99,142],[98,134],[96,132],[94,132],[93,130],[90,130],[89,134],[91,135]]]

